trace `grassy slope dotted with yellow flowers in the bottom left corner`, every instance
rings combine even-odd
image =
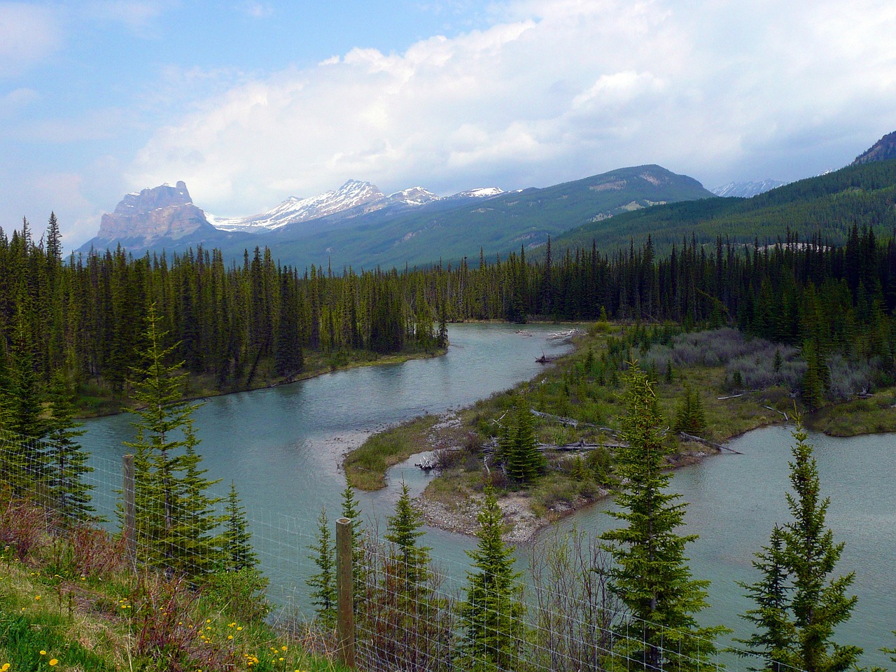
[[[308,652],[308,631],[234,618],[202,581],[134,573],[105,533],[79,546],[79,530],[51,535],[30,508],[0,495],[0,668],[341,672]]]

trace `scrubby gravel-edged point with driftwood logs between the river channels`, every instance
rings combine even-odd
[[[573,352],[546,366],[544,374],[521,383],[508,392],[478,401],[466,409],[442,416],[410,420],[401,426],[371,436],[347,456],[344,467],[355,487],[365,490],[385,485],[385,473],[410,455],[428,452],[439,476],[419,498],[428,524],[444,530],[473,534],[478,527],[476,514],[490,482],[498,491],[499,504],[508,526],[507,539],[525,543],[538,530],[593,504],[612,490],[611,450],[554,452],[547,474],[530,486],[511,488],[499,470],[489,469],[482,446],[493,441],[513,401],[523,397],[530,408],[556,416],[538,418],[536,431],[542,444],[583,444],[602,446],[608,432],[619,426],[625,413],[621,369],[614,369],[607,353],[633,348],[626,339],[642,338],[633,325],[593,325],[574,340]],[[634,333],[633,333],[634,332]],[[650,345],[635,355],[646,358],[645,366],[655,365]],[[757,365],[760,358],[756,358]],[[742,366],[738,364],[738,366]],[[749,375],[744,372],[743,375]],[[666,418],[676,418],[685,390],[696,390],[703,409],[705,426],[700,435],[714,444],[762,426],[788,422],[795,410],[789,387],[769,386],[761,390],[732,389],[726,366],[686,366],[655,375],[659,408]],[[803,413],[806,426],[831,435],[853,435],[896,431],[892,410],[893,389],[879,391],[870,398],[832,404],[814,413]],[[568,420],[568,422],[566,421]],[[603,428],[601,428],[603,427]],[[673,457],[670,468],[700,461],[718,452],[704,444],[670,438]],[[602,454],[599,454],[602,453]],[[733,459],[734,456],[732,456]]]

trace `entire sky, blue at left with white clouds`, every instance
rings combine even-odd
[[[349,179],[708,188],[841,168],[896,130],[892,0],[0,2],[0,227],[67,249],[184,180],[218,216]]]

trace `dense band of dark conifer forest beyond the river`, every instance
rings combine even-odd
[[[281,266],[268,249],[226,265],[218,251],[132,257],[122,249],[60,253],[56,218],[37,242],[30,226],[0,229],[0,380],[30,360],[49,379],[122,390],[149,306],[168,344],[220,390],[251,382],[259,362],[289,377],[308,350],[397,352],[444,345],[446,323],[468,319],[600,317],[685,326],[732,324],[809,349],[872,359],[892,382],[896,366],[896,240],[853,227],[843,246],[796,234],[772,246],[694,237],[662,258],[648,239],[604,254],[596,245],[526,260],[525,250],[478,265],[403,272]]]

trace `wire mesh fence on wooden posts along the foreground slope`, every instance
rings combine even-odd
[[[787,672],[626,613],[610,590],[609,560],[593,535],[573,534],[533,549],[526,571],[502,582],[476,563],[431,557],[413,538],[396,542],[377,521],[354,521],[349,597],[340,600],[337,575],[346,552],[340,561],[338,545],[322,541],[330,527],[322,528],[321,519],[246,510],[204,495],[195,461],[175,461],[167,474],[152,472],[149,482],[141,482],[147,472],[138,464],[130,486],[123,461],[93,458],[90,467],[71,470],[58,453],[55,444],[0,429],[0,487],[6,495],[0,545],[34,543],[28,538],[33,530],[82,545],[102,536],[119,558],[168,580],[227,577],[241,562],[257,563],[273,607],[268,617],[285,630],[313,630],[328,650],[344,644],[338,610],[348,600],[359,669]],[[235,533],[240,521],[245,538]],[[190,590],[191,584],[177,585]],[[220,585],[232,590],[234,600],[245,597],[234,583]]]

